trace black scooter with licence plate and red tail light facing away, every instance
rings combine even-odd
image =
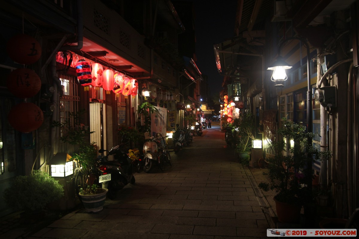
[[[102,183],[102,188],[107,188],[107,196],[113,200],[116,198],[117,192],[128,183],[134,184],[135,177],[133,175],[133,167],[129,156],[123,152],[122,148],[125,144],[116,145],[111,150],[100,149],[98,157],[98,169],[101,172],[98,182]],[[107,152],[107,155],[103,153]],[[114,160],[109,161],[108,156],[113,155]]]

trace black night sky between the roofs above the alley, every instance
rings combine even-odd
[[[237,0],[194,0],[196,64],[208,76],[211,95],[222,90],[223,76],[216,67],[213,45],[234,37]],[[215,4],[218,3],[218,4]]]

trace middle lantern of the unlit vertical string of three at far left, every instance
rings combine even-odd
[[[18,98],[29,98],[41,89],[40,77],[32,70],[20,68],[12,71],[6,82],[9,91]]]

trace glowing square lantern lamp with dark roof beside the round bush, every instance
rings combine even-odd
[[[57,153],[50,162],[50,172],[52,177],[67,177],[74,173],[74,161],[68,153]]]

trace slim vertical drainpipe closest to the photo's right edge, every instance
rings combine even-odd
[[[350,147],[349,142],[352,142],[350,140],[351,138],[351,125],[353,124],[353,122],[351,121],[350,118],[350,112],[351,111],[351,101],[350,101],[350,90],[351,90],[351,70],[353,68],[353,62],[350,64],[349,67],[349,75],[348,75],[348,94],[347,94],[347,106],[346,106],[346,183],[347,183],[347,199],[348,199],[348,212],[349,215],[351,214],[351,212],[353,212],[352,209],[352,205],[353,205],[353,193],[352,193],[352,189],[351,189],[351,182],[353,182],[353,171],[351,169],[351,167],[353,166],[353,150]],[[349,164],[350,163],[350,164]]]

